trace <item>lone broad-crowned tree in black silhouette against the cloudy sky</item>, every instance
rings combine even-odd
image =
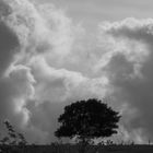
[[[81,142],[92,139],[110,137],[117,133],[119,113],[96,98],[79,101],[64,107],[58,121],[59,129],[55,132],[58,138],[74,138]]]

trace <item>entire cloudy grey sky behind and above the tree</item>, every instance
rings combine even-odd
[[[111,139],[153,141],[151,0],[0,0],[0,131],[50,143],[63,107],[107,99]]]

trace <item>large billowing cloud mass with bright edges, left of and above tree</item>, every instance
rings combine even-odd
[[[92,76],[89,63],[96,60],[81,43],[85,31],[61,10],[27,0],[1,4],[0,118],[24,130],[30,141],[45,143],[52,140],[63,106],[103,97],[108,80]]]

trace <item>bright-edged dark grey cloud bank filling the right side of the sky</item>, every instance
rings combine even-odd
[[[129,136],[141,130],[139,142],[145,142],[153,136],[153,20],[127,19],[102,23],[99,28],[102,35],[107,35],[114,46],[114,49],[107,52],[107,64],[99,69],[104,70],[110,80],[115,103],[128,105],[122,118],[128,118],[129,121],[125,122],[122,119],[122,122]]]

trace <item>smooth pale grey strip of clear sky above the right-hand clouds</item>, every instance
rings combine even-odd
[[[152,17],[152,0],[39,0],[52,2],[66,10],[67,15],[82,22],[86,28],[102,21],[119,21],[125,17]]]

